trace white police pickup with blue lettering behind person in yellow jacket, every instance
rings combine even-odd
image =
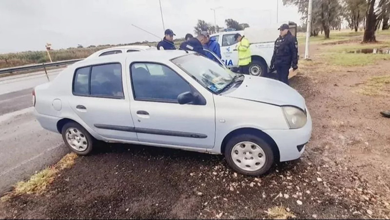
[[[296,24],[293,22],[286,22],[290,25],[290,31],[296,35]],[[279,25],[280,26],[280,25]],[[275,40],[279,37],[277,24],[273,27],[249,27],[244,31],[225,31],[211,35],[221,46],[222,61],[229,68],[238,67],[238,51],[235,50],[237,41],[234,40],[234,35],[239,33],[245,36],[251,46],[252,62],[249,66],[249,73],[256,76],[265,76],[271,66],[271,59],[273,55],[273,47]],[[228,29],[227,29],[228,30]]]

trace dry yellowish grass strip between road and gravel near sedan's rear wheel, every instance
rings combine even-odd
[[[28,181],[16,183],[13,191],[1,197],[1,202],[6,202],[12,198],[25,194],[42,194],[46,191],[47,187],[53,183],[56,174],[63,169],[71,168],[75,164],[76,158],[77,155],[75,153],[69,153],[56,165],[41,170],[34,174]]]

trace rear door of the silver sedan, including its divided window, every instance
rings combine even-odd
[[[102,137],[137,141],[124,68],[121,62],[105,62],[76,69],[69,104]]]

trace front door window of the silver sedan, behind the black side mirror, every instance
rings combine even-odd
[[[170,68],[154,63],[136,63],[130,67],[136,100],[177,103],[177,96],[191,92],[190,85]]]

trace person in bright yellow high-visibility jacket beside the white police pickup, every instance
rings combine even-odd
[[[235,34],[234,39],[238,41],[236,50],[238,50],[239,73],[249,74],[249,64],[252,62],[252,53],[249,49],[249,40],[245,36]]]

